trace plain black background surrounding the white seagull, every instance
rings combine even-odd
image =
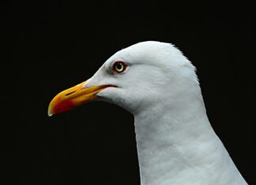
[[[174,43],[198,68],[214,130],[255,184],[255,17],[247,2],[1,2],[2,184],[139,184],[134,118],[105,102],[47,117],[116,51]]]

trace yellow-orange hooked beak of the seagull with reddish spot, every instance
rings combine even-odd
[[[68,111],[78,105],[96,99],[98,98],[96,96],[98,92],[107,87],[112,87],[111,85],[102,85],[83,88],[85,83],[86,81],[58,93],[50,102],[48,107],[48,116],[51,117],[53,114]]]

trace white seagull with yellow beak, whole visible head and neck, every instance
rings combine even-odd
[[[209,123],[195,70],[171,43],[137,43],[57,94],[48,115],[92,100],[133,113],[141,185],[247,184]]]

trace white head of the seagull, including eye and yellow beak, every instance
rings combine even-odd
[[[120,105],[130,113],[164,102],[175,105],[181,94],[198,84],[194,71],[194,65],[170,43],[137,43],[108,58],[90,79],[57,94],[48,115],[92,100]]]

